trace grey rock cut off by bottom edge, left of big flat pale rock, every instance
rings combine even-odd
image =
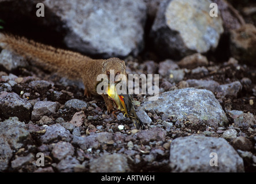
[[[127,158],[122,154],[102,155],[90,159],[91,173],[124,173],[129,171]]]

